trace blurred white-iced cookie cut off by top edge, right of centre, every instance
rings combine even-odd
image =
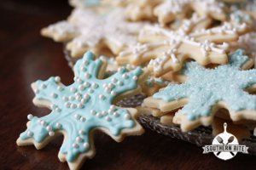
[[[185,19],[194,10],[201,16],[225,20],[224,3],[218,0],[136,0],[128,3],[126,13],[131,20],[154,20],[166,25],[177,18]]]

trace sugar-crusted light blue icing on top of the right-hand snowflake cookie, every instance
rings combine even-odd
[[[256,83],[256,70],[240,70],[248,60],[241,49],[230,54],[229,59],[229,64],[219,65],[215,69],[206,69],[196,62],[184,64],[181,73],[188,77],[188,81],[169,85],[154,94],[154,99],[171,102],[188,98],[189,103],[184,105],[181,112],[191,121],[210,116],[212,107],[218,101],[224,101],[233,111],[255,110],[256,96],[245,90]]]

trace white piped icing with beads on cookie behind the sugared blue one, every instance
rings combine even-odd
[[[160,26],[145,26],[142,31],[142,34],[145,36],[162,36],[166,37],[163,41],[155,42],[148,42],[143,44],[137,44],[131,47],[129,50],[121,52],[119,57],[126,57],[127,55],[130,56],[131,62],[133,60],[140,60],[142,59],[144,54],[154,51],[155,48],[161,48],[163,46],[170,46],[168,51],[161,51],[162,54],[160,56],[154,56],[153,59],[150,60],[148,66],[153,68],[154,72],[160,72],[163,69],[163,65],[171,59],[173,64],[182,64],[181,60],[178,59],[178,55],[182,54],[183,51],[179,51],[179,47],[182,44],[189,44],[194,48],[200,48],[201,54],[203,57],[207,58],[209,52],[215,52],[217,54],[225,54],[226,51],[229,49],[229,44],[225,43],[223,40],[223,44],[216,44],[214,42],[210,42],[207,39],[209,37],[218,37],[219,35],[239,35],[240,32],[244,32],[247,30],[246,24],[241,24],[239,26],[233,26],[230,23],[224,23],[223,26],[213,27],[211,29],[202,29],[200,31],[194,31],[189,33],[189,26],[193,26],[191,24],[181,27],[177,31],[170,31],[162,28]],[[146,33],[144,33],[146,32]],[[143,36],[141,34],[141,36]],[[166,49],[165,49],[166,50]],[[156,58],[156,59],[154,59]],[[141,64],[141,63],[140,63]]]

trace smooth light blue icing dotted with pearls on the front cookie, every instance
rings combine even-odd
[[[90,147],[84,147],[83,144],[90,144],[89,135],[92,129],[106,128],[113,136],[118,136],[122,129],[135,126],[135,120],[132,120],[130,113],[125,109],[113,106],[112,102],[117,95],[137,88],[137,77],[143,71],[141,68],[129,72],[122,69],[113,76],[100,80],[97,79],[97,76],[102,66],[102,60],[93,60],[93,57],[94,55],[88,52],[84,54],[83,59],[77,61],[74,66],[75,82],[67,87],[61,85],[56,77],[36,82],[38,90],[35,92],[35,99],[49,101],[52,104],[52,111],[47,116],[33,116],[30,126],[20,134],[20,139],[32,138],[38,143],[42,143],[49,136],[49,132],[64,130],[68,138],[61,145],[61,153],[67,155],[67,161],[73,161],[79,153],[90,149]],[[86,73],[90,75],[86,75]],[[93,83],[96,83],[97,86],[93,86]],[[113,87],[108,88],[107,86]],[[86,94],[89,95],[89,98],[84,96]],[[105,99],[100,99],[99,95],[101,94],[105,96]],[[67,108],[67,102],[71,104],[69,108]],[[71,107],[74,105],[76,108],[72,109]],[[78,108],[79,106],[82,108]],[[110,106],[113,108],[111,109]],[[42,121],[47,125],[40,124]],[[61,126],[57,123],[60,123]],[[52,130],[47,129],[47,126]],[[79,141],[78,137],[79,140],[82,140]]]

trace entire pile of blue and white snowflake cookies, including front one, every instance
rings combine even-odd
[[[78,169],[95,154],[95,129],[121,141],[125,135],[143,133],[137,116],[152,116],[151,121],[182,132],[211,126],[216,134],[228,122],[238,138],[251,135],[256,122],[255,2],[70,4],[74,9],[67,20],[41,33],[64,43],[74,82],[66,87],[60,77],[51,77],[32,84],[35,105],[52,112],[40,118],[29,115],[17,144],[42,148],[62,133],[67,138],[59,158]],[[137,94],[145,96],[143,103]],[[127,98],[137,107],[116,105]]]

